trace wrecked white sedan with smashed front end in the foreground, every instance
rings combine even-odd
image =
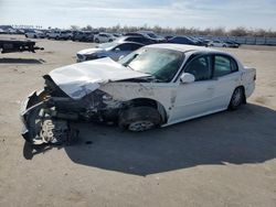
[[[52,70],[23,102],[22,135],[33,144],[72,135],[71,120],[116,123],[130,131],[166,127],[246,102],[256,70],[211,48],[156,44],[119,62],[102,58]]]

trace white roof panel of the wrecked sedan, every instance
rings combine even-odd
[[[203,47],[203,46],[194,46],[194,45],[184,45],[184,44],[152,44],[148,45],[147,47],[151,48],[168,48],[168,50],[173,50],[173,51],[179,51],[179,52],[220,52],[224,53],[214,48],[210,47]],[[226,54],[226,53],[225,53]]]

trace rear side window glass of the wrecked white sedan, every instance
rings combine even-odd
[[[233,72],[237,72],[237,64],[235,63],[234,59],[221,55],[216,55],[214,57],[213,77],[222,77]]]

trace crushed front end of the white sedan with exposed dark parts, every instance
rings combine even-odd
[[[72,128],[74,121],[117,121],[123,103],[108,94],[96,89],[81,99],[73,99],[49,75],[44,79],[44,90],[32,92],[21,106],[22,135],[28,142],[70,143],[78,134]]]

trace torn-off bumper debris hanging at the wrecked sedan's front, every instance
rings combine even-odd
[[[70,127],[66,118],[53,110],[52,99],[42,100],[42,92],[33,91],[21,106],[22,137],[31,144],[60,144],[76,140],[78,130]],[[75,118],[75,117],[74,117]],[[73,118],[72,118],[73,119]]]

